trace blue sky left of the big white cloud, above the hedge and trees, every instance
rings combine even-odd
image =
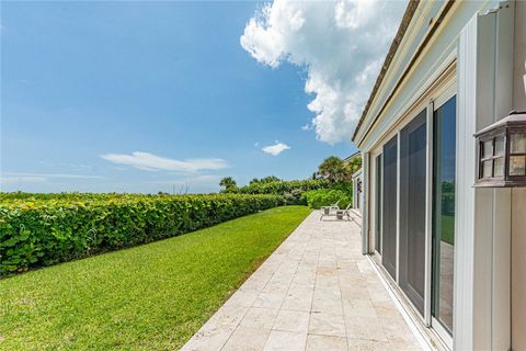
[[[261,3],[1,7],[2,191],[210,192],[355,151],[311,123],[308,61],[240,44]],[[289,149],[263,151],[277,141]]]

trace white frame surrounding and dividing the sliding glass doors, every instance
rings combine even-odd
[[[376,263],[378,271],[381,273],[388,285],[391,287],[392,292],[400,301],[403,308],[412,316],[412,319],[415,322],[419,322],[422,327],[426,327],[428,330],[428,335],[433,336],[432,340],[435,344],[441,344],[441,348],[444,350],[453,350],[453,338],[442,327],[438,321],[434,321],[432,317],[432,248],[433,248],[433,122],[434,122],[434,111],[442,106],[445,102],[447,102],[453,95],[457,94],[457,63],[456,63],[456,55],[450,55],[442,66],[441,73],[437,73],[430,79],[427,82],[424,83],[425,89],[423,89],[423,93],[411,104],[407,105],[403,109],[400,109],[397,113],[399,115],[398,121],[392,124],[370,147],[370,158],[369,165],[371,167],[371,172],[367,177],[367,183],[369,189],[374,189],[374,192],[369,193],[369,205],[370,205],[370,213],[369,219],[371,226],[369,229],[376,228],[376,218],[378,215],[382,215],[381,213],[377,213],[376,207],[376,157],[382,155],[384,146],[391,140],[391,138],[397,137],[398,139],[398,151],[400,151],[400,139],[399,134],[400,131],[409,124],[414,117],[418,116],[422,110],[426,109],[426,211],[425,211],[425,267],[424,267],[424,276],[425,276],[425,291],[424,291],[424,316],[418,313],[415,306],[411,303],[409,297],[407,297],[403,291],[398,285],[398,272],[399,272],[399,206],[400,202],[399,199],[397,200],[397,278],[391,276],[387,270],[381,264],[381,254],[375,250],[374,242],[375,239],[375,231],[368,230],[368,238],[369,238],[369,247],[368,252],[371,254],[373,261]],[[457,111],[457,118],[458,118],[458,111]],[[458,120],[457,120],[458,121]],[[457,123],[458,124],[458,123]],[[384,155],[382,155],[384,157]],[[400,166],[400,155],[397,156],[397,163],[398,167]],[[384,181],[385,181],[385,173],[382,169],[382,191],[384,191]],[[397,189],[400,186],[400,170],[397,170]],[[400,192],[398,191],[397,196],[400,196]],[[384,199],[381,199],[384,202]],[[457,230],[457,228],[455,228]],[[456,265],[456,264],[455,264]],[[454,317],[455,319],[455,317]],[[455,324],[455,321],[454,321]],[[441,329],[442,328],[442,329]]]

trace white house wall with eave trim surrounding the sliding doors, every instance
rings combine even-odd
[[[505,116],[512,107],[526,110],[526,2],[518,1],[516,11],[514,4],[502,2],[499,9],[494,1],[456,2],[373,125],[382,102],[405,68],[402,65],[408,57],[405,50],[414,47],[414,42],[408,43],[404,37],[402,54],[395,56],[397,65],[386,73],[356,135],[364,155],[377,152],[401,128],[401,121],[414,115],[412,110],[416,103],[419,106],[424,103],[422,97],[426,101],[436,98],[428,95],[430,87],[443,71],[456,65],[456,350],[507,350],[513,346],[514,351],[526,351],[526,189],[472,188],[478,152],[473,134]],[[416,13],[419,10],[421,15],[437,14],[436,8],[425,3]],[[416,21],[422,22],[422,18]],[[418,31],[412,31],[409,35],[416,41]],[[434,88],[434,91],[438,94],[441,90]],[[365,167],[373,161],[374,158],[364,162]],[[376,192],[368,191],[374,181],[374,173],[369,173],[368,167],[364,168],[367,191],[364,193],[367,203],[363,207],[367,223],[364,252],[370,248],[367,238],[373,234],[368,224],[374,223],[376,207],[376,196],[368,199]]]

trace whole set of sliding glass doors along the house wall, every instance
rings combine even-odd
[[[386,271],[423,318],[431,314],[432,327],[451,343],[456,98],[448,97],[423,109],[375,158],[374,236]],[[431,147],[433,159],[427,157]]]

